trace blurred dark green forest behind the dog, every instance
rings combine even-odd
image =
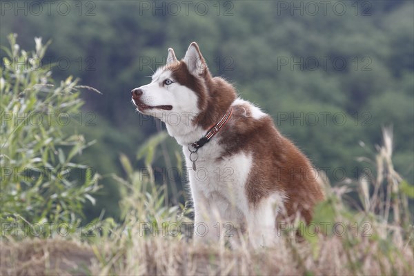
[[[97,140],[80,160],[103,177],[96,206],[86,207],[90,219],[102,209],[119,217],[119,188],[109,175],[125,174],[120,154],[136,160],[164,128],[135,111],[130,90],[149,82],[167,48],[182,57],[191,41],[213,75],[272,115],[334,183],[344,181],[341,172],[353,178],[371,168],[357,159],[375,152],[390,124],[395,168],[414,182],[413,1],[34,2],[1,2],[1,45],[10,32],[21,48],[32,48],[34,37],[51,39],[43,66],[54,63],[54,79],[75,75],[103,92],[83,93],[79,124],[65,128]],[[157,181],[183,190],[185,174],[163,170],[178,162],[165,152],[174,157],[181,149],[172,138],[162,148]],[[172,198],[183,202],[184,193]]]

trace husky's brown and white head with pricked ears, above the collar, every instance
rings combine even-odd
[[[213,103],[213,99],[217,102]],[[195,42],[190,44],[181,61],[175,57],[174,50],[168,49],[167,63],[157,69],[152,81],[132,90],[132,102],[137,110],[167,125],[166,119],[174,113],[185,121],[203,122],[202,126],[208,126],[226,112],[234,99],[235,91],[229,83],[211,77]]]

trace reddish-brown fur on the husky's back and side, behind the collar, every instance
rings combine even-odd
[[[270,116],[254,119],[246,110],[248,106],[233,108],[233,117],[219,139],[228,156],[240,151],[253,154],[246,184],[250,204],[254,208],[271,193],[282,192],[288,217],[299,212],[310,222],[313,206],[324,199],[315,168],[292,141],[279,133]]]

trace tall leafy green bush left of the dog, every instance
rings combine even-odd
[[[16,37],[9,35],[10,48],[2,46],[8,57],[1,68],[1,222],[26,229],[23,236],[37,233],[34,224],[51,226],[40,233],[45,236],[55,235],[61,223],[75,230],[83,204],[95,203],[99,178],[95,169],[73,161],[93,142],[63,127],[83,103],[78,79],[56,86],[39,63],[49,43],[36,38],[36,50],[26,52]]]

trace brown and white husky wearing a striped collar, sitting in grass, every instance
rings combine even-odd
[[[252,246],[271,246],[279,219],[300,215],[309,222],[324,199],[311,162],[269,115],[210,75],[197,43],[181,61],[168,49],[166,66],[132,90],[132,101],[164,121],[183,147],[197,239],[219,239],[217,228],[231,225],[247,232]]]

